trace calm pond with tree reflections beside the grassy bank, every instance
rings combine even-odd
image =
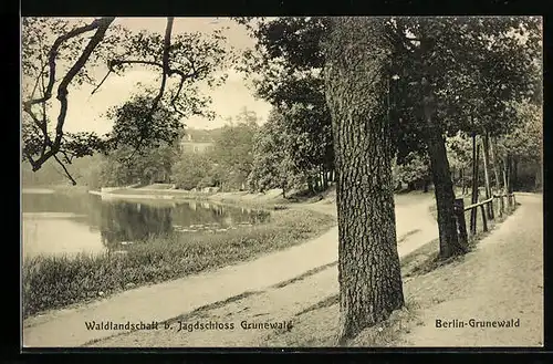
[[[90,194],[22,194],[23,256],[98,253],[171,233],[223,233],[269,212],[205,201],[102,200]]]

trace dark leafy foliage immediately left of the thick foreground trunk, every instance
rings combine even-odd
[[[291,178],[315,180],[334,169],[331,117],[321,71],[328,19],[323,17],[240,19],[257,40],[244,56],[243,70],[254,71],[259,96],[282,115],[286,135],[286,164],[298,170]],[[303,177],[300,177],[303,175]],[[296,177],[300,177],[299,179]],[[282,179],[281,183],[282,184]]]

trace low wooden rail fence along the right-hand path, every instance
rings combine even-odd
[[[472,204],[469,206],[465,206],[465,200],[462,198],[457,198],[455,200],[455,216],[457,219],[457,228],[459,231],[459,238],[467,242],[468,241],[468,233],[467,233],[467,221],[465,218],[465,212],[466,211],[471,211],[476,209],[476,219],[474,223],[470,226],[470,233],[471,236],[477,233],[477,220],[478,220],[478,208],[480,207],[480,211],[482,215],[482,230],[488,231],[488,220],[493,219],[495,209],[499,212],[499,216],[503,216],[505,214],[505,201],[503,198],[507,198],[507,206],[511,210],[514,208],[517,205],[517,199],[514,197],[514,194],[502,194],[502,195],[493,195],[487,200]],[[499,204],[494,204],[494,200],[499,200]],[[486,206],[489,206],[488,208]]]

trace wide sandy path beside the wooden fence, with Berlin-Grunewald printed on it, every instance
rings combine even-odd
[[[418,325],[399,346],[543,346],[542,195],[522,205],[462,262],[407,287],[420,305]],[[511,321],[511,327],[472,327],[470,320]],[[436,327],[436,320],[452,322]],[[460,326],[463,327],[460,327]]]

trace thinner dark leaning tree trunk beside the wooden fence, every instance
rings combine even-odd
[[[436,196],[436,207],[438,211],[438,229],[440,236],[440,259],[467,252],[467,247],[459,240],[457,230],[457,219],[455,216],[455,193],[451,180],[451,171],[447,158],[446,139],[444,132],[437,119],[436,94],[432,87],[432,80],[436,73],[435,66],[430,63],[430,53],[434,40],[422,37],[420,40],[420,54],[422,65],[422,111],[425,117],[426,142],[428,156],[430,157],[430,168],[432,170],[434,191]]]

